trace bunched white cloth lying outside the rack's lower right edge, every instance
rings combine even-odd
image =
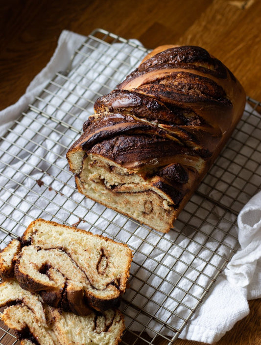
[[[237,223],[241,248],[181,333],[183,339],[218,341],[249,313],[247,300],[261,297],[261,192],[242,208]]]

